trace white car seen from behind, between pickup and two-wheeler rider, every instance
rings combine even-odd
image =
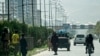
[[[74,39],[74,45],[76,44],[84,44],[85,45],[85,35],[84,34],[77,34]]]

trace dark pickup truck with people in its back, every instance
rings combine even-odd
[[[68,36],[68,32],[60,31],[57,32],[59,43],[58,48],[67,48],[67,51],[70,51],[70,37]]]

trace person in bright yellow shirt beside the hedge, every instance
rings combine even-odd
[[[17,56],[17,53],[20,50],[20,37],[17,30],[12,34],[12,45],[15,48],[14,55]]]

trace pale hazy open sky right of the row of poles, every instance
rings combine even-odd
[[[67,12],[67,21],[75,24],[96,24],[100,20],[100,0],[60,0]]]

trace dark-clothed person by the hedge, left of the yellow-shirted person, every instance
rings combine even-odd
[[[4,56],[8,56],[9,55],[9,44],[10,44],[9,28],[8,27],[3,28],[1,41],[2,41],[2,45],[3,45],[2,46],[3,54],[4,54]]]

